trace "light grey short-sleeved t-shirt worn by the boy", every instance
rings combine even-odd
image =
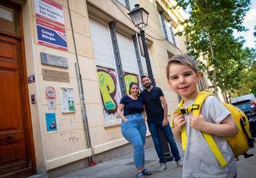
[[[189,104],[189,103],[188,103]],[[190,104],[191,105],[191,104]],[[187,108],[189,105],[184,107]],[[216,97],[209,96],[202,105],[201,115],[209,123],[221,123],[231,113]],[[226,139],[219,136],[214,136],[218,148],[220,148],[225,160],[228,162],[224,168],[221,168],[220,163],[208,146],[202,133],[197,129],[193,129],[189,124],[189,115],[184,115],[186,119],[187,132],[187,147],[184,155],[184,164],[182,177],[194,178],[233,178],[236,176],[236,159],[233,151]],[[211,175],[211,176],[209,176]]]

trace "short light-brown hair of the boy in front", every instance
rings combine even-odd
[[[177,55],[174,55],[173,57],[171,57],[171,59],[169,59],[169,61],[168,61],[168,64],[166,66],[167,79],[169,79],[169,67],[173,63],[189,65],[194,70],[195,73],[198,72],[197,63],[195,62],[195,60],[192,57],[190,57],[189,55],[185,55],[185,54],[177,54]]]

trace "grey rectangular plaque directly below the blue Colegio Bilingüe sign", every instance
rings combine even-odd
[[[41,63],[47,65],[54,65],[57,67],[69,68],[66,57],[61,57],[58,55],[47,54],[45,52],[40,52]]]

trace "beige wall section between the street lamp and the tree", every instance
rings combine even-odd
[[[177,10],[169,10],[169,7],[171,6],[170,2],[173,1],[145,0],[145,2],[145,9],[148,10],[148,12],[150,13],[148,17],[148,26],[145,31],[147,38],[153,41],[153,43],[149,47],[149,51],[153,59],[153,68],[156,73],[156,83],[158,84],[158,86],[161,87],[161,89],[163,89],[166,101],[168,102],[168,115],[170,115],[177,107],[178,100],[177,95],[170,89],[167,83],[165,70],[166,64],[169,59],[168,52],[173,55],[181,54],[181,52],[186,53],[186,46],[184,44],[185,38],[184,36],[176,38],[178,40],[177,44],[179,49],[171,44],[171,42],[164,39],[159,20],[159,13],[156,6],[160,5],[164,9],[164,12],[168,14],[171,18],[173,18],[175,22],[177,22],[177,18],[179,18],[180,20],[183,20],[183,18]],[[182,29],[182,26],[178,26],[177,28]]]

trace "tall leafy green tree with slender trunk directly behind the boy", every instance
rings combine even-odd
[[[177,33],[187,37],[189,55],[204,61],[198,61],[200,67],[208,71],[215,94],[217,86],[226,92],[226,84],[231,78],[224,77],[224,66],[230,67],[229,61],[240,60],[235,54],[241,52],[244,40],[234,38],[233,30],[245,31],[242,22],[249,10],[250,0],[176,0],[177,7],[190,7],[190,17],[184,22],[184,30]],[[228,84],[229,86],[229,84]],[[225,93],[226,95],[226,93]]]

